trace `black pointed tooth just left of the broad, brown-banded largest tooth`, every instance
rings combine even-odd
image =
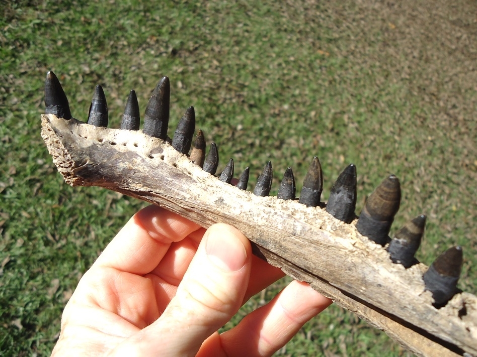
[[[328,213],[346,223],[356,217],[356,166],[351,164],[338,176],[326,205]]]

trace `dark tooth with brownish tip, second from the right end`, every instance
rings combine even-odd
[[[405,268],[418,263],[414,255],[421,245],[425,226],[426,216],[421,214],[406,223],[394,234],[394,238],[387,249],[393,263],[401,263]]]

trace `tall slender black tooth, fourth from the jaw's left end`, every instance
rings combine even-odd
[[[163,77],[155,86],[144,114],[144,134],[166,140],[169,125],[169,100],[171,86],[168,77]]]

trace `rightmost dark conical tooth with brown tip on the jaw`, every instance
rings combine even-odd
[[[432,293],[434,306],[444,306],[459,290],[457,281],[462,270],[462,248],[455,246],[442,253],[423,275],[426,290]]]

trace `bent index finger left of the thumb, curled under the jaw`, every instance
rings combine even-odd
[[[200,226],[157,206],[141,209],[129,219],[93,266],[144,275],[163,259],[171,243],[182,241]]]

